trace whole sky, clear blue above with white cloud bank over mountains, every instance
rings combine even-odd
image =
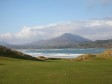
[[[112,39],[112,0],[0,0],[0,40],[26,43],[63,33]]]

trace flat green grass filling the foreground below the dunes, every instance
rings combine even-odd
[[[112,84],[112,60],[30,61],[0,57],[0,84]]]

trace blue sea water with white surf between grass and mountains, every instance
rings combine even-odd
[[[44,56],[49,58],[75,58],[83,54],[98,54],[103,52],[104,48],[88,49],[17,49],[24,54],[34,57]]]

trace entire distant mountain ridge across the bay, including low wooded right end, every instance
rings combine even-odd
[[[4,45],[15,49],[40,49],[40,48],[112,48],[112,39],[91,41],[84,37],[65,33],[56,38],[41,40],[21,45]]]

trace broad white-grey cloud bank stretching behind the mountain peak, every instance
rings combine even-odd
[[[9,43],[29,43],[72,33],[91,40],[112,39],[112,19],[72,21],[43,26],[24,26],[17,33],[1,34],[0,39]]]

